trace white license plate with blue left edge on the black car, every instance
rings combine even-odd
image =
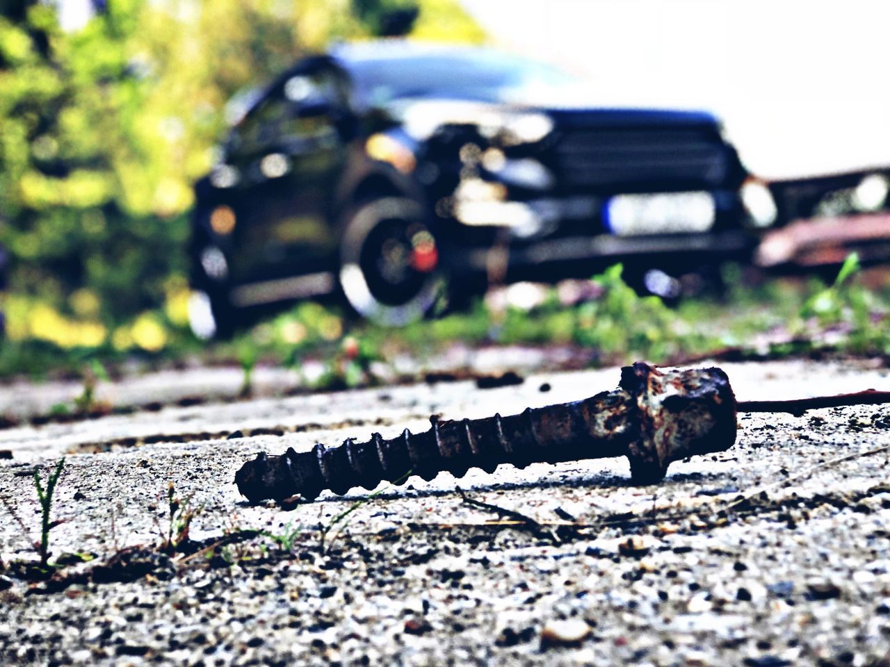
[[[606,202],[603,219],[619,237],[692,234],[714,226],[716,207],[709,192],[617,195]]]

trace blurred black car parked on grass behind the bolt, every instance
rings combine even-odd
[[[475,47],[387,41],[299,61],[196,185],[196,328],[323,294],[401,325],[490,278],[748,253],[746,174],[714,117],[582,105],[575,85]]]

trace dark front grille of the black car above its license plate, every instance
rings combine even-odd
[[[570,129],[554,149],[569,188],[717,187],[730,168],[713,130],[695,128]]]

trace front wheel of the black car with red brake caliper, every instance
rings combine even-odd
[[[361,317],[401,326],[430,315],[445,285],[439,246],[424,207],[408,197],[384,197],[344,215],[338,277]]]

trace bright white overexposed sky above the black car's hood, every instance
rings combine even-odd
[[[890,0],[461,0],[611,105],[708,108],[765,177],[890,166]]]

